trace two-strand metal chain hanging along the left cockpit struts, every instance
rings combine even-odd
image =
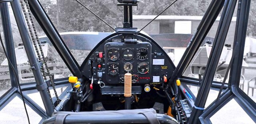
[[[35,39],[34,39],[34,35],[33,35],[33,33],[32,33],[31,27],[30,27],[30,23],[29,23],[29,21],[28,21],[28,17],[27,17],[27,13],[26,13],[24,4],[23,4],[22,0],[20,0],[21,6],[22,6],[22,10],[23,10],[23,12],[24,12],[24,15],[25,15],[25,18],[26,18],[26,22],[27,22],[27,24],[28,24],[28,29],[29,29],[29,31],[30,31],[30,35],[31,35],[31,37],[32,37],[32,41],[33,41],[34,47],[35,47],[35,49],[36,49],[36,53],[37,53],[37,55],[38,55],[38,59],[39,59],[40,61],[42,60],[43,64],[44,64],[45,67],[46,67],[46,70],[47,70],[47,73],[48,73],[48,76],[49,76],[49,79],[50,79],[52,88],[53,88],[53,90],[54,90],[54,93],[55,93],[55,96],[56,96],[56,99],[57,99],[57,104],[58,104],[58,103],[60,102],[60,99],[58,98],[58,94],[57,94],[56,89],[55,89],[55,83],[54,83],[54,81],[53,81],[53,79],[52,79],[52,75],[50,75],[50,71],[49,71],[50,69],[49,69],[48,66],[47,66],[46,59],[45,59],[45,57],[44,57],[44,52],[43,52],[43,50],[42,50],[41,43],[40,43],[40,41],[39,41],[39,39],[38,39],[38,35],[37,35],[36,28],[35,28],[35,26],[34,26],[34,22],[33,22],[32,16],[31,16],[31,12],[30,12],[30,8],[29,8],[29,5],[28,5],[28,1],[27,1],[27,0],[24,0],[24,1],[25,1],[25,3],[26,3],[26,7],[27,7],[28,14],[29,14],[29,17],[30,17],[30,22],[31,22],[31,24],[32,24],[32,26],[33,26],[33,30],[34,30],[34,33],[35,33],[35,36],[36,36],[36,41],[37,41],[37,43],[38,43],[38,46],[39,46],[41,55],[42,55],[42,59],[41,59],[40,53],[39,53],[39,51],[38,51],[38,47],[37,47],[37,45],[36,45],[36,41],[35,41]],[[42,64],[42,66],[41,66],[41,70],[42,70],[42,73],[43,73],[43,76],[44,76],[44,80],[46,81],[47,78],[46,78],[46,73],[45,73],[45,71],[44,71],[44,65],[43,65],[43,64]],[[48,94],[49,94],[49,96],[50,96],[50,101],[52,102],[52,97],[51,97],[51,94],[50,94],[50,90],[47,89],[47,91],[48,91]],[[52,105],[53,105],[53,107],[54,107],[53,102],[52,102]]]

